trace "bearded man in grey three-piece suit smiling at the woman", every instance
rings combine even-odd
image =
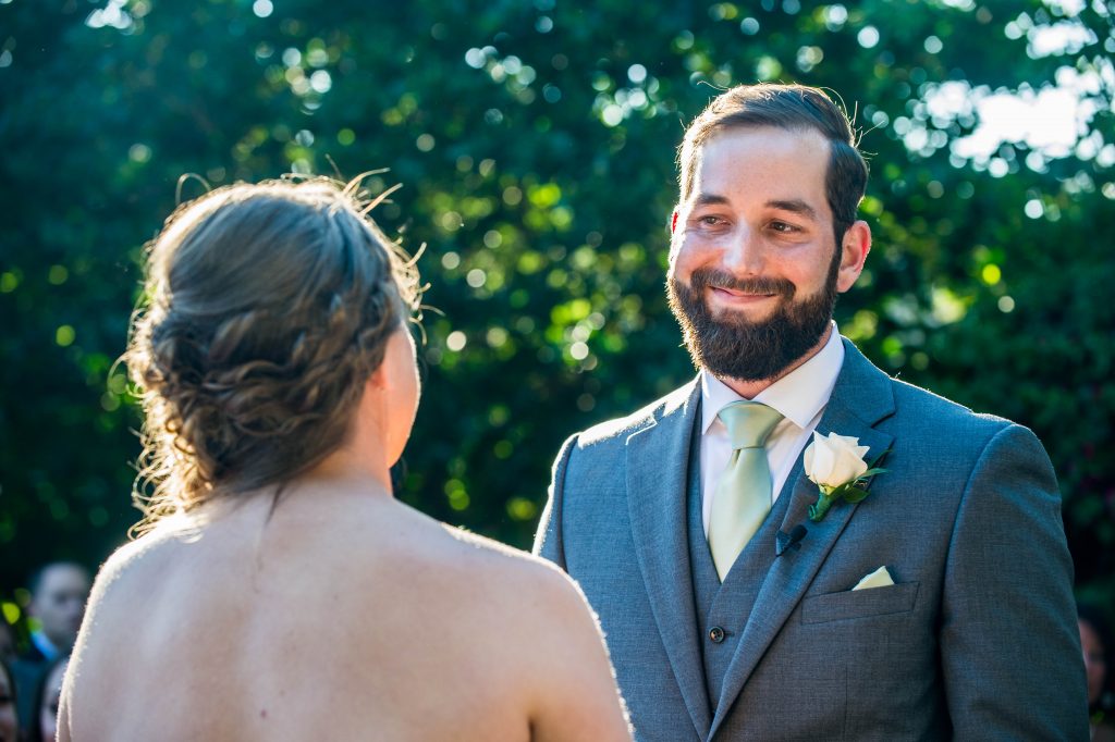
[[[832,322],[871,247],[844,114],[737,87],[680,165],[667,290],[700,371],[565,442],[535,543],[600,614],[638,738],[1086,740],[1041,445]]]

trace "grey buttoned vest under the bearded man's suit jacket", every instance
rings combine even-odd
[[[697,414],[699,426],[700,412]],[[758,595],[767,570],[775,559],[775,534],[789,507],[789,494],[780,496],[758,531],[736,558],[724,584],[716,574],[712,555],[708,550],[705,524],[701,517],[700,487],[700,430],[695,430],[689,448],[689,569],[692,574],[694,607],[697,613],[698,644],[705,664],[705,686],[708,690],[711,713],[724,687],[736,646],[744,633],[752,606]]]

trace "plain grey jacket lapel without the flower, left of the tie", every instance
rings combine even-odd
[[[695,382],[680,394],[683,397],[676,398],[680,404],[676,402],[657,422],[628,439],[628,506],[650,607],[686,707],[697,733],[704,739],[710,714],[697,644],[686,521],[689,446],[700,384]]]

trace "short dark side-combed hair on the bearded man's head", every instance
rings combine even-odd
[[[867,164],[856,149],[855,131],[847,116],[820,88],[764,82],[740,85],[717,96],[689,125],[679,148],[681,202],[692,191],[698,148],[717,131],[758,126],[789,131],[813,129],[828,141],[825,193],[838,248],[863,201]]]

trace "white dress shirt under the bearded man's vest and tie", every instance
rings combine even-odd
[[[808,361],[774,382],[755,396],[752,401],[763,402],[782,413],[783,420],[775,426],[767,438],[767,463],[772,476],[772,504],[778,499],[783,485],[789,477],[797,457],[809,442],[813,430],[821,422],[821,416],[828,404],[828,398],[836,385],[844,364],[844,343],[841,341],[836,323],[832,324],[828,341]],[[716,481],[728,466],[731,446],[728,429],[717,417],[725,406],[744,399],[727,384],[702,370],[700,374],[701,396],[701,441],[700,441],[700,487],[701,511],[705,519],[705,535],[708,536],[708,519],[712,512],[712,497]]]

